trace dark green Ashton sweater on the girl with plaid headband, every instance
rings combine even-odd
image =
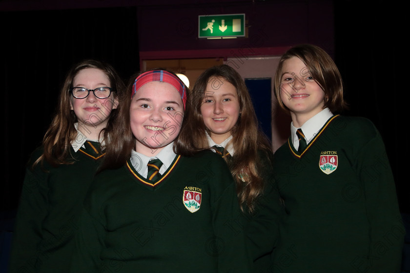
[[[250,272],[232,176],[211,151],[176,156],[152,185],[130,161],[95,177],[71,272]]]

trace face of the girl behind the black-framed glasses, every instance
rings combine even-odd
[[[111,87],[111,84],[102,70],[85,68],[74,77],[73,86],[95,89]],[[90,92],[86,98],[71,97],[70,104],[77,117],[79,130],[87,137],[98,139],[98,134],[106,127],[108,117],[112,109],[117,108],[118,102],[113,93],[108,98],[96,98],[94,93]]]

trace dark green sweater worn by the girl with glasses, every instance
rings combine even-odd
[[[82,200],[103,154],[100,144],[71,148],[73,164],[31,168],[42,154],[36,150],[26,169],[13,232],[10,273],[68,272],[74,232]]]

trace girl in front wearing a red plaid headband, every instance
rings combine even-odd
[[[76,236],[72,272],[250,272],[226,164],[183,131],[189,91],[172,72],[133,78]]]

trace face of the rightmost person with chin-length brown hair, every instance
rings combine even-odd
[[[281,100],[289,109],[293,124],[300,127],[325,108],[325,92],[297,57],[285,60],[282,71]]]

